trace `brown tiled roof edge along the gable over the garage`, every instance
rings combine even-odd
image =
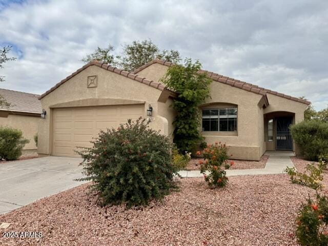
[[[151,87],[156,88],[158,90],[161,90],[161,91],[169,91],[172,95],[175,95],[175,93],[172,90],[166,88],[165,85],[163,85],[161,83],[155,82],[153,80],[148,80],[148,79],[146,79],[144,77],[140,77],[138,75],[135,75],[133,72],[127,72],[127,71],[124,71],[124,70],[121,70],[121,69],[112,67],[110,65],[107,65],[105,63],[100,63],[98,60],[93,60],[90,63],[88,63],[88,64],[84,65],[83,67],[81,67],[80,69],[76,70],[71,75],[69,75],[66,78],[64,78],[63,80],[61,80],[54,87],[50,88],[50,90],[46,91],[44,94],[40,95],[38,98],[39,99],[42,99],[43,97],[45,97],[46,95],[48,95],[50,92],[54,91],[59,86],[63,85],[67,80],[69,80],[70,78],[72,78],[76,74],[78,74],[79,72],[85,70],[86,68],[88,68],[88,67],[90,67],[92,65],[95,65],[95,66],[97,66],[99,68],[103,68],[105,70],[108,70],[108,71],[117,73],[119,75],[122,75],[122,76],[125,76],[125,77],[128,77],[128,78],[131,78],[131,79],[133,79],[135,81],[138,81],[139,83],[145,84],[147,86],[151,86]]]

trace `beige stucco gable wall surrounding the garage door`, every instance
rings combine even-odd
[[[97,87],[87,88],[87,77],[93,75],[97,75]],[[119,98],[145,101],[144,117],[147,117],[147,106],[151,104],[153,107],[152,117],[155,118],[155,121],[151,122],[151,127],[161,130],[163,134],[168,135],[168,120],[158,115],[157,100],[161,93],[162,91],[141,84],[138,81],[101,69],[97,66],[90,66],[41,99],[42,107],[47,111],[47,117],[46,119],[42,119],[39,124],[38,153],[51,154],[51,106],[69,101],[82,100],[80,101],[82,105],[79,104],[79,107],[81,107],[84,106],[83,99],[90,98]],[[90,106],[90,101],[92,100],[85,100],[86,105]]]

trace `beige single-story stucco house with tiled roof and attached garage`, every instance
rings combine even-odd
[[[128,118],[151,117],[151,127],[172,136],[176,93],[160,83],[172,64],[153,60],[134,72],[92,61],[39,97],[40,155],[76,156],[101,129]],[[240,80],[207,73],[211,98],[200,106],[201,134],[209,144],[225,142],[236,159],[259,160],[266,150],[298,152],[289,125],[303,120],[309,101]],[[152,115],[147,110],[152,108]]]

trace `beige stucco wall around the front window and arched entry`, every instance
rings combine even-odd
[[[165,76],[168,67],[160,64],[152,64],[137,74],[154,81]],[[203,132],[206,141],[226,142],[230,146],[230,152],[234,158],[257,160],[265,150],[274,150],[274,142],[265,141],[264,114],[276,111],[291,112],[294,115],[294,123],[298,123],[304,118],[304,110],[308,107],[297,101],[282,98],[276,95],[267,94],[269,106],[262,108],[261,95],[247,92],[229,85],[224,85],[213,81],[211,85],[211,99],[206,103],[230,103],[238,106],[238,133],[228,132]],[[172,129],[173,130],[173,129]],[[294,143],[294,151],[299,150]]]

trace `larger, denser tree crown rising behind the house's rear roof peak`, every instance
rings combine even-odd
[[[175,64],[181,60],[180,53],[176,50],[160,50],[150,39],[141,42],[137,40],[124,46],[120,66],[126,71],[134,71],[156,58]]]

